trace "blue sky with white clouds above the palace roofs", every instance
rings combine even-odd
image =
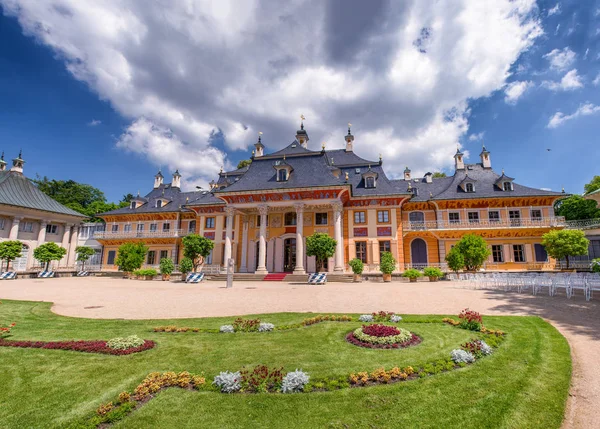
[[[110,200],[159,167],[205,185],[301,113],[313,148],[352,122],[390,176],[450,173],[482,143],[525,185],[600,175],[599,1],[83,3],[0,0],[0,150],[28,176]]]

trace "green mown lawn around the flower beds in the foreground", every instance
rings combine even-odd
[[[452,316],[452,315],[450,315]],[[254,316],[251,316],[254,317]],[[259,316],[275,325],[308,314]],[[3,428],[62,428],[85,421],[152,371],[204,372],[266,364],[302,368],[314,377],[419,366],[440,358],[473,334],[440,323],[443,316],[405,316],[401,326],[423,342],[404,350],[352,346],[344,336],[359,322],[325,322],[290,331],[249,334],[154,333],[155,326],[218,328],[232,318],[92,320],[61,317],[49,303],[3,301],[0,324],[16,322],[11,339],[109,339],[138,335],[157,346],[128,355],[0,348]],[[168,389],[115,428],[450,427],[558,428],[571,375],[569,347],[537,317],[484,317],[508,333],[496,352],[475,365],[432,377],[335,392],[224,395]]]

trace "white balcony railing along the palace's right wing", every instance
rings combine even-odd
[[[458,221],[432,220],[425,222],[402,222],[404,231],[423,231],[428,229],[495,229],[495,228],[548,228],[566,226],[564,217],[542,219],[520,218],[499,220]]]

